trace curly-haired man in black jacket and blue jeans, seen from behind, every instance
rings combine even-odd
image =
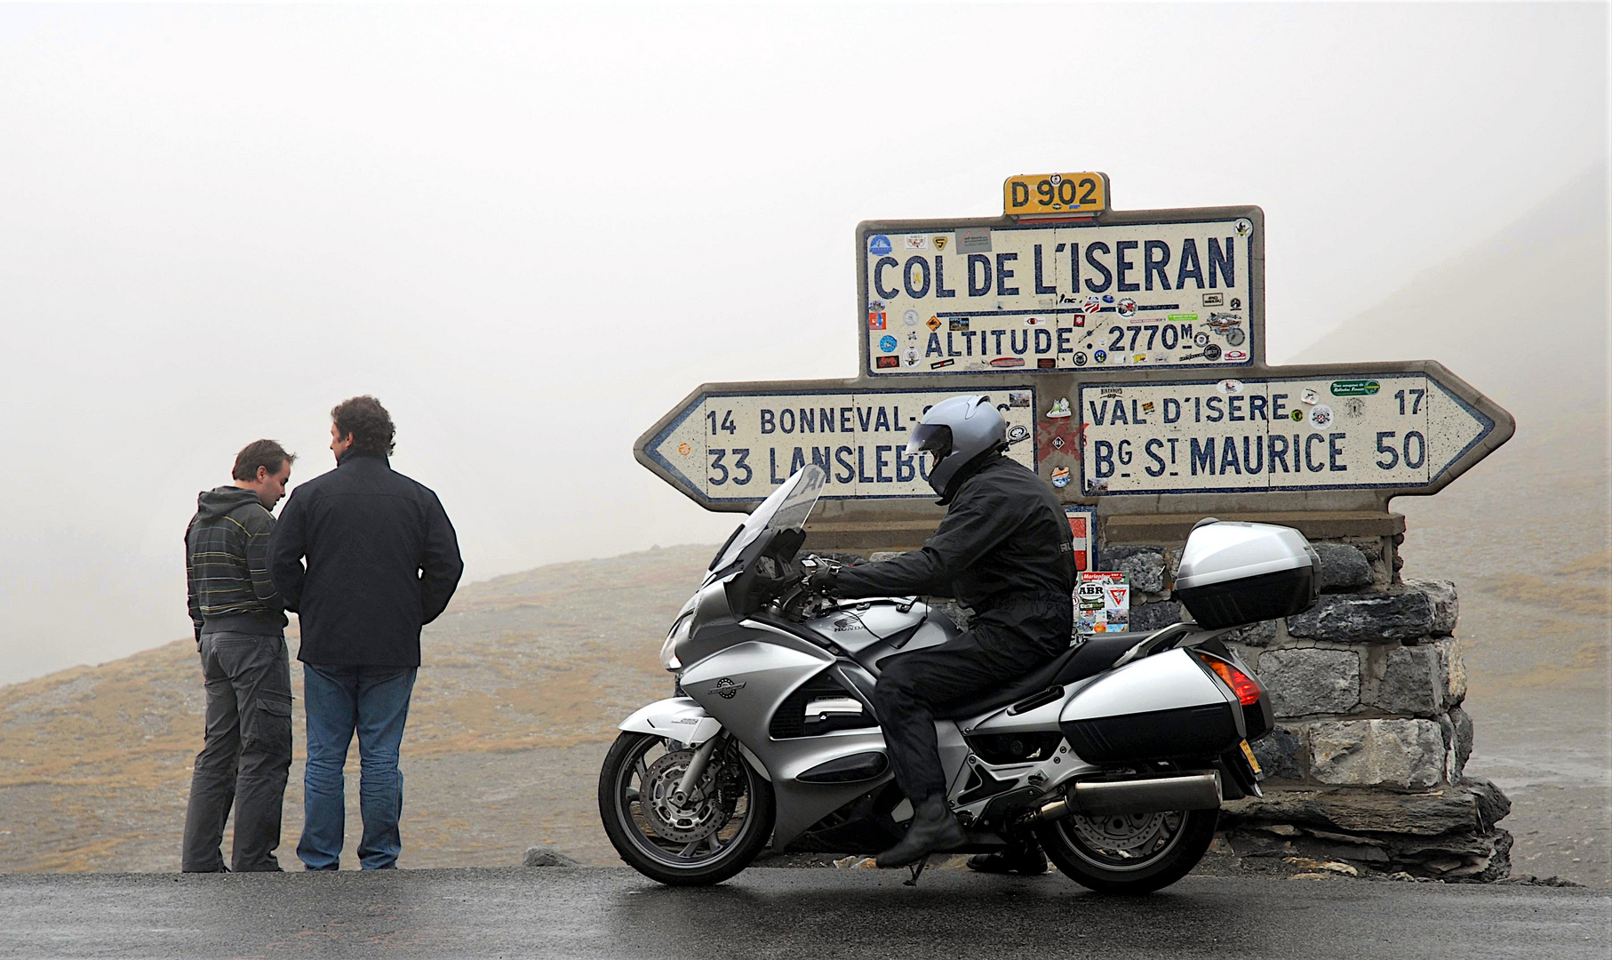
[[[308,768],[297,855],[308,870],[340,865],[342,766],[356,733],[358,862],[387,870],[403,849],[398,750],[419,631],[448,607],[464,563],[437,495],[387,461],[397,431],[380,402],[353,397],[330,421],[337,466],[297,487],[269,547],[274,582],[301,623]]]

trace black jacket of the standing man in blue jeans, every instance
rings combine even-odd
[[[437,494],[382,455],[351,452],[292,492],[269,560],[301,620],[297,658],[332,666],[419,666],[419,628],[464,573]]]

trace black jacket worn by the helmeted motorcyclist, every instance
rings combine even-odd
[[[922,549],[841,568],[835,592],[956,597],[975,611],[975,626],[1067,647],[1075,545],[1051,487],[1019,461],[990,455],[946,494],[946,516]]]

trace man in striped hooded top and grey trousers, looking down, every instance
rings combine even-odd
[[[292,765],[285,605],[269,578],[269,513],[292,461],[274,440],[235,457],[231,486],[203,490],[185,529],[185,574],[202,676],[206,744],[190,778],[181,868],[227,873],[219,844],[235,807],[237,873],[279,870],[280,803]]]

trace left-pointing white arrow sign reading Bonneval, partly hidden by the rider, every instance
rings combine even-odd
[[[933,497],[929,457],[908,431],[966,389],[903,390],[848,381],[704,384],[638,437],[634,455],[706,508],[764,499],[806,463],[829,473],[824,497]],[[1009,453],[1035,470],[1035,389],[987,390],[1008,419]]]

